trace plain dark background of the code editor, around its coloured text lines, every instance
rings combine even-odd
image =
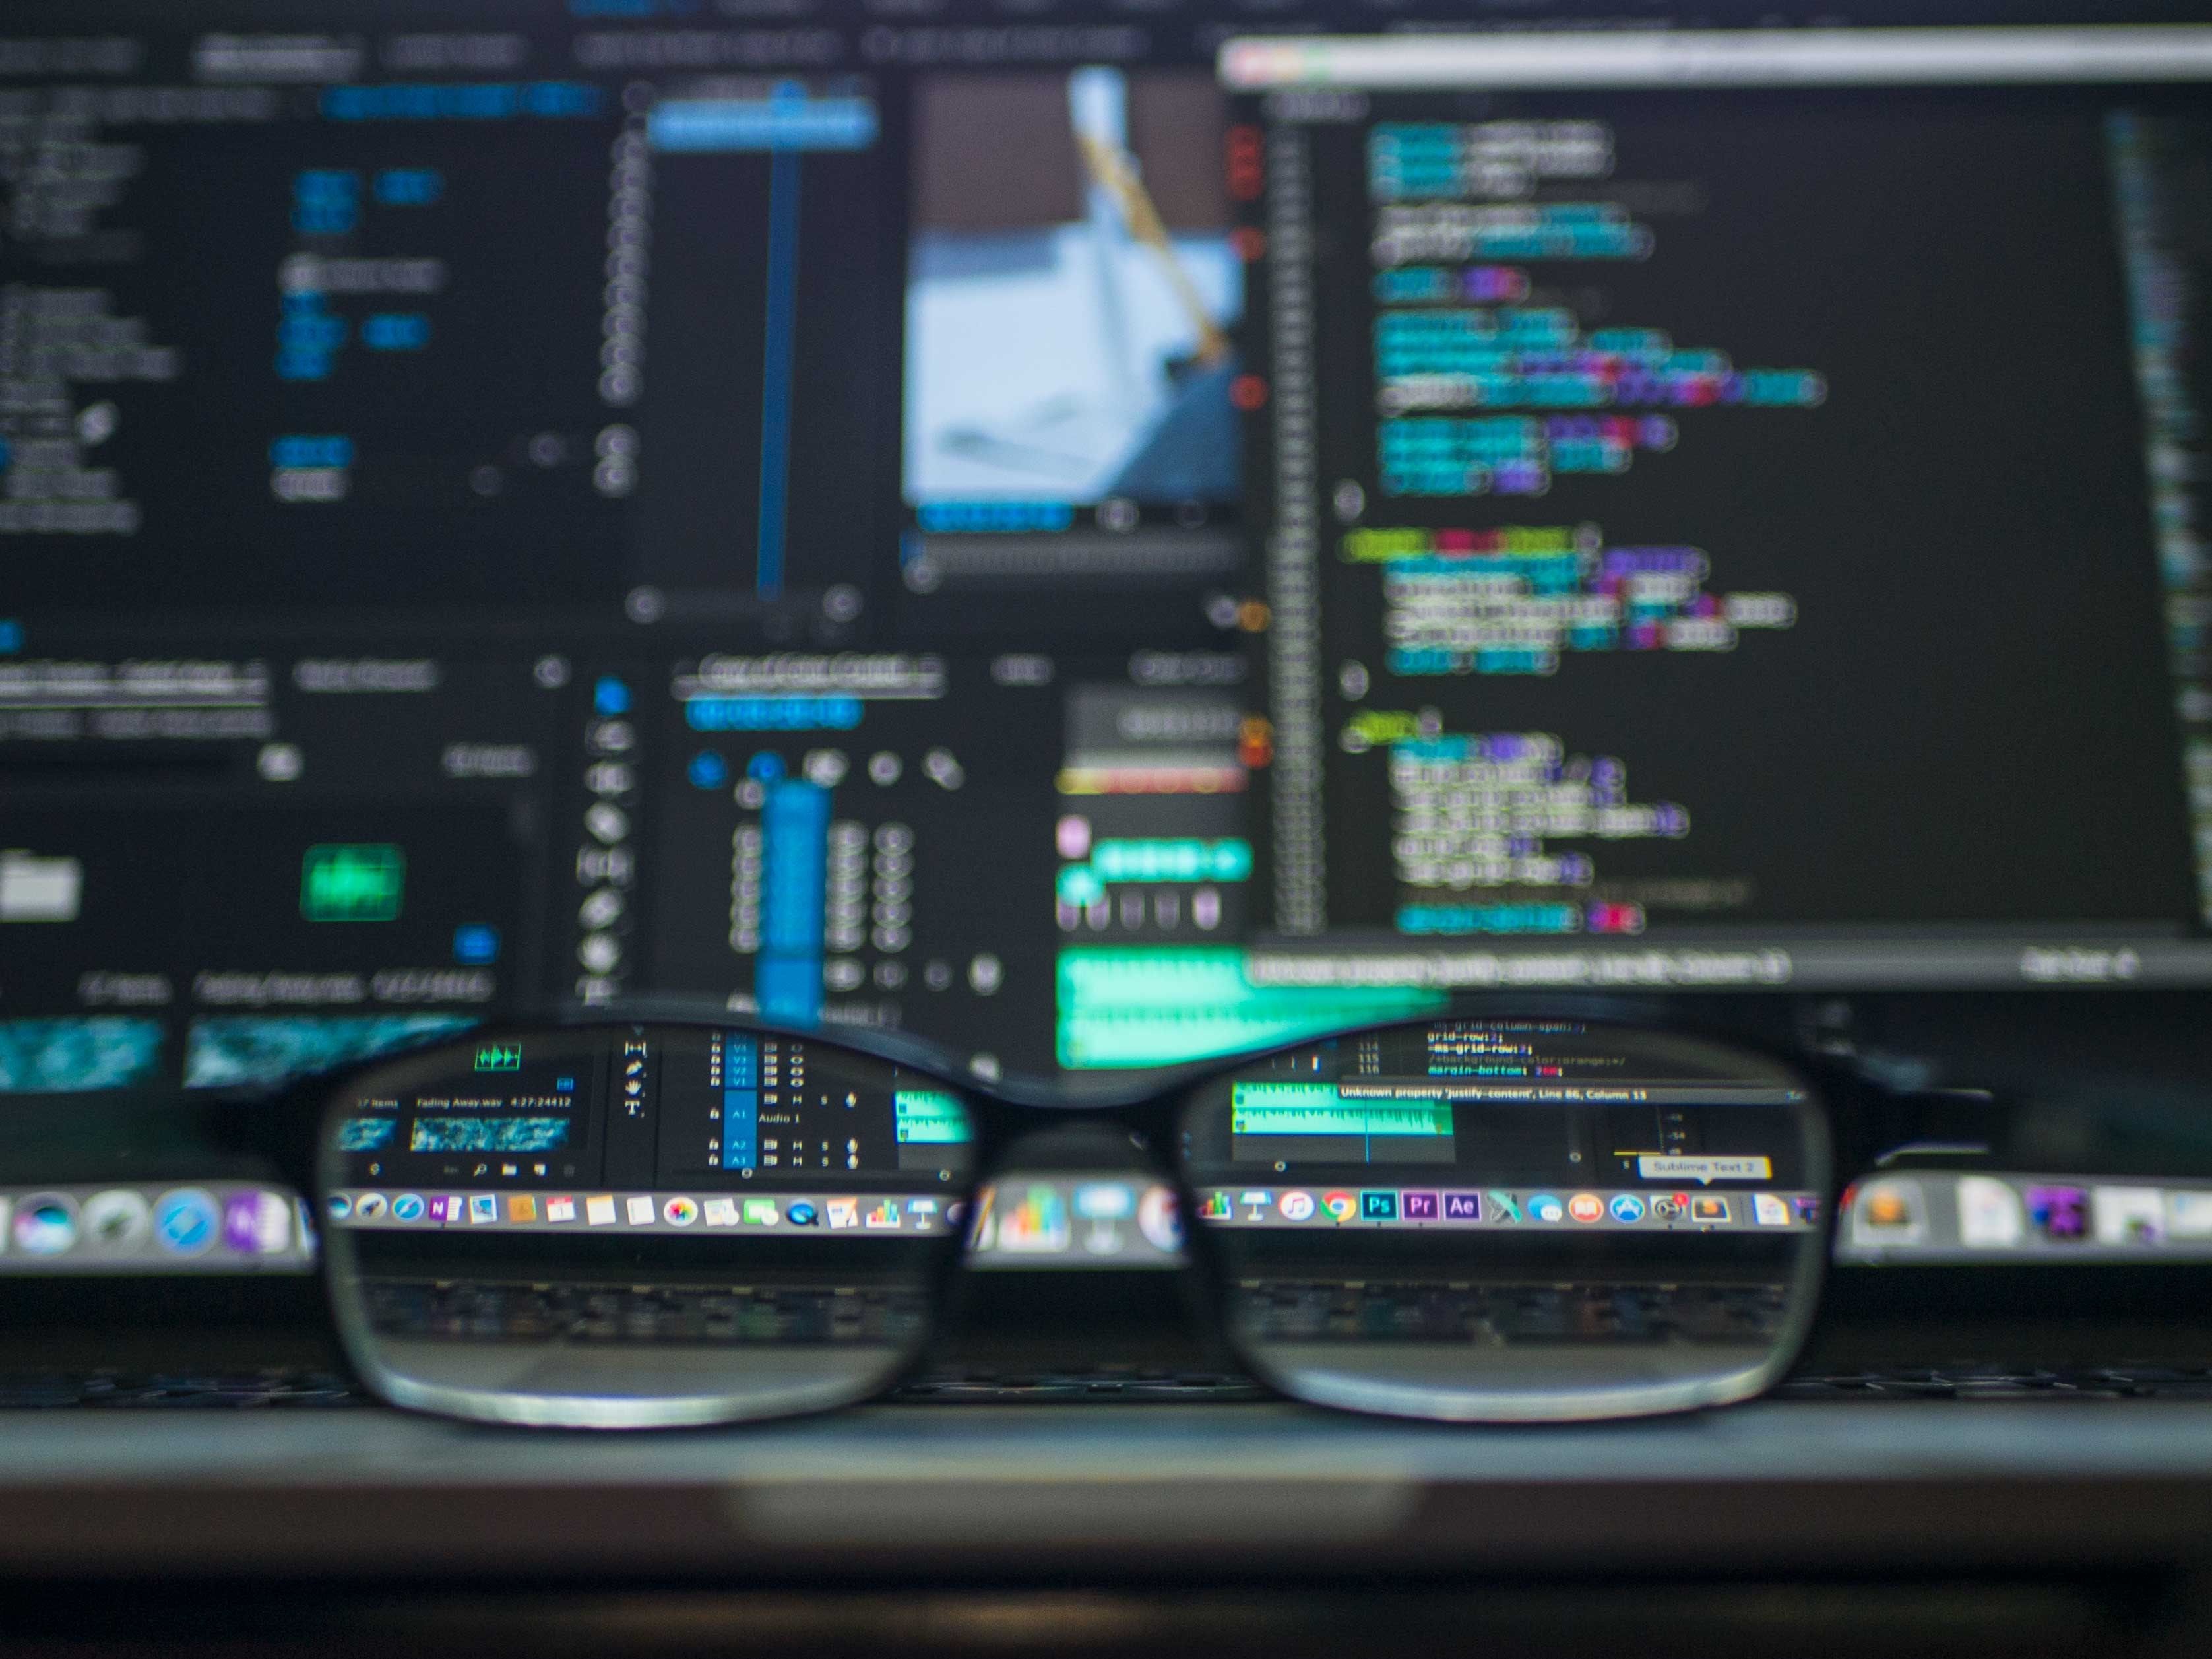
[[[1692,544],[1708,593],[1785,591],[1790,630],[1732,653],[1564,653],[1551,677],[1383,672],[1380,571],[1329,555],[1332,732],[1436,706],[1449,732],[1553,732],[1613,754],[1683,841],[1562,843],[1599,883],[1752,880],[1719,922],[2181,920],[2192,909],[2172,681],[2146,509],[2101,113],[2115,95],[1728,93],[1378,100],[1374,119],[1604,119],[1615,181],[1692,184],[1639,219],[1648,261],[1526,263],[1531,305],[1663,327],[1743,367],[1809,367],[1814,409],[1674,414],[1672,451],[1546,495],[1376,489],[1365,128],[1314,126],[1323,478],[1363,524],[1604,526]],[[1551,184],[1542,199],[1604,199]],[[1590,301],[1597,301],[1595,305]],[[1389,925],[1387,752],[1332,752],[1329,907]],[[1475,898],[1504,889],[1475,889]],[[1559,889],[1548,889],[1557,894]],[[1411,894],[1411,889],[1407,889]],[[1433,900],[1460,894],[1431,891]],[[1666,911],[1655,911],[1655,925]]]

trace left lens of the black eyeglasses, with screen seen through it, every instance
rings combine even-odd
[[[787,1416],[891,1383],[958,1250],[960,1095],[838,1044],[542,1031],[356,1077],[330,1285],[400,1405],[568,1427]]]

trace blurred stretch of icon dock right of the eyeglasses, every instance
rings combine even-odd
[[[2203,1181],[1893,1172],[1849,1186],[1836,1219],[1836,1261],[1854,1265],[2212,1261]]]

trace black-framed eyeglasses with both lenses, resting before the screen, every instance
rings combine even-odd
[[[380,1398],[637,1429],[867,1400],[971,1241],[1066,1230],[995,1183],[1037,1133],[1150,1161],[1146,1217],[1237,1360],[1316,1405],[1621,1418],[1778,1380],[1827,1261],[1827,1113],[1792,1062],[1593,1020],[1429,1020],[1121,1097],[896,1037],[538,1026],[385,1060],[270,1119]],[[1128,1188],[1121,1188],[1124,1192]]]

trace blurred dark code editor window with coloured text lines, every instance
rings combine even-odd
[[[2205,60],[2079,44],[2068,88],[1986,42],[1225,46],[1272,376],[1254,980],[2201,971],[2203,560],[2139,482],[2146,409],[2154,478],[2190,442],[2192,93],[2112,82]]]

